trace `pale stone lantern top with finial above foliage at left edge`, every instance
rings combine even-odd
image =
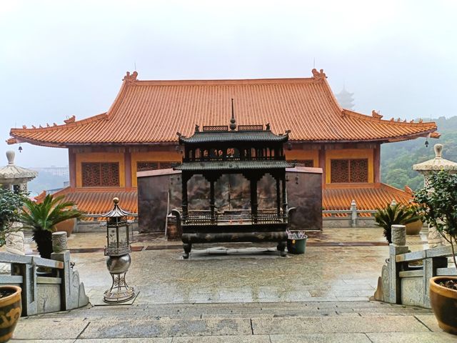
[[[16,166],[16,164],[14,164],[14,156],[14,151],[6,151],[8,165],[0,168],[1,187],[10,189],[14,192],[27,192],[27,182],[35,179],[38,172]]]

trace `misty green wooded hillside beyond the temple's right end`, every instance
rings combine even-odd
[[[432,119],[438,125],[439,139],[425,138],[411,141],[399,141],[381,145],[381,180],[393,187],[404,189],[406,185],[411,189],[423,187],[423,177],[413,171],[413,164],[433,159],[433,146],[443,144],[443,158],[457,161],[457,116],[446,119],[444,116]]]

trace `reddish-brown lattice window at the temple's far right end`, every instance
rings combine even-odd
[[[368,182],[368,159],[332,159],[331,183]]]

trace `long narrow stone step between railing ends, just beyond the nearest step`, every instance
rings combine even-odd
[[[43,318],[125,317],[139,319],[224,319],[224,318],[287,318],[287,317],[373,317],[431,314],[429,309],[383,304],[381,302],[321,302],[262,304],[161,304],[109,305],[77,309],[70,312],[43,314]]]

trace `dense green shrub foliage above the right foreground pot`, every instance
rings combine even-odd
[[[454,250],[454,244],[457,244],[457,174],[444,170],[431,174],[429,186],[418,190],[414,200],[423,219],[451,243],[457,268]]]

